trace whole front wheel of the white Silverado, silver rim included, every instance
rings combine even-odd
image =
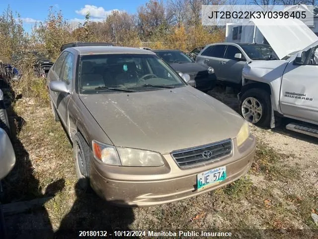
[[[242,95],[240,112],[244,119],[261,127],[269,127],[271,118],[270,95],[261,89],[249,89]]]

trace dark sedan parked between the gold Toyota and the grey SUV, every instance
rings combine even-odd
[[[153,50],[153,52],[168,63],[176,72],[189,74],[191,80],[195,80],[198,90],[208,92],[214,88],[216,76],[212,67],[208,68],[197,64],[178,50]]]

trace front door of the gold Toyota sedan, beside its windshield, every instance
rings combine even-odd
[[[63,67],[60,74],[60,80],[65,82],[70,92],[72,93],[72,81],[75,77],[75,56],[69,52],[69,54],[66,56],[65,61],[63,63]],[[67,107],[71,100],[72,94],[70,93],[58,93],[58,98],[56,102],[56,109],[60,114],[61,119],[64,121],[64,124],[68,122],[67,120]]]

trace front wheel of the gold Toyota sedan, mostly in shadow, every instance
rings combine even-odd
[[[83,190],[89,189],[89,146],[83,136],[77,132],[73,144],[76,174],[79,179],[79,187]]]

